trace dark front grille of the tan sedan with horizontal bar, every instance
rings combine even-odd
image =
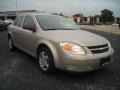
[[[109,51],[109,46],[108,44],[99,45],[99,46],[88,46],[88,49],[90,49],[90,51],[93,54],[99,54]]]

